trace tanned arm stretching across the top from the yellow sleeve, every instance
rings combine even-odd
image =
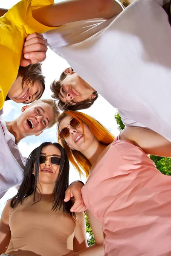
[[[114,0],[67,0],[33,11],[33,17],[46,26],[60,26],[78,20],[109,19],[122,12]]]

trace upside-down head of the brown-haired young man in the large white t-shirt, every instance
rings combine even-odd
[[[59,80],[51,84],[52,98],[57,99],[62,110],[81,110],[90,108],[98,98],[98,93],[78,76],[72,67],[61,74]]]

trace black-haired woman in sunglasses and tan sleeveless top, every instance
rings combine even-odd
[[[103,256],[101,225],[89,215],[96,244],[87,247],[84,212],[71,213],[72,201],[64,202],[68,177],[69,161],[60,144],[46,142],[32,151],[17,195],[1,216],[2,255]]]

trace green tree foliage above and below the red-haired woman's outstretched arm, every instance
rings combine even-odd
[[[122,122],[119,113],[116,112],[115,115],[116,123],[118,125],[119,131],[122,131],[125,128],[125,125]],[[167,157],[157,157],[157,156],[150,156],[151,160],[154,161],[156,168],[165,175],[171,175],[171,158]]]

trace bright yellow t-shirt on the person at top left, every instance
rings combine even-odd
[[[17,78],[26,36],[55,29],[35,20],[32,10],[52,3],[53,0],[22,0],[0,17],[0,109]]]

